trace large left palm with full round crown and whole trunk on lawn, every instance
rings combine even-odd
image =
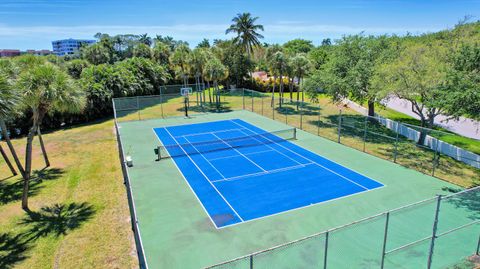
[[[25,177],[22,208],[28,211],[28,191],[32,172],[32,142],[47,113],[79,112],[85,106],[84,92],[58,67],[45,63],[22,73],[18,79],[22,100],[32,111],[32,127],[25,149]]]

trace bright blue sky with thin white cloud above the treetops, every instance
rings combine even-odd
[[[51,40],[110,34],[170,35],[196,45],[226,38],[235,14],[250,12],[265,26],[264,41],[284,43],[364,31],[414,34],[479,20],[480,0],[0,0],[0,49],[51,49]]]

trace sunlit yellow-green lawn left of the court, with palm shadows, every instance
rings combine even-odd
[[[52,166],[43,169],[35,143],[33,213],[21,210],[21,178],[0,159],[0,268],[138,267],[113,122],[44,140]],[[25,139],[14,143],[23,160]]]

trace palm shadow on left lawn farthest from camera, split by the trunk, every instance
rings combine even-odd
[[[30,181],[29,197],[35,196],[42,189],[44,180],[55,180],[64,173],[60,168],[36,170]],[[0,205],[18,201],[22,198],[23,180],[8,183],[0,181]]]

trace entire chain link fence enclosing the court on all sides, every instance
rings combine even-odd
[[[116,126],[121,121],[183,116],[181,87],[163,86],[155,96],[115,98]],[[188,100],[189,114],[248,110],[458,185],[469,187],[480,182],[480,171],[475,168],[480,161],[475,156],[445,154],[455,149],[436,139],[435,130],[363,116],[323,100],[311,103],[248,89],[216,91],[204,85],[189,87],[194,89]],[[420,136],[424,141],[419,142]],[[121,144],[119,147],[123,155]],[[133,202],[131,195],[130,190],[129,201]],[[131,210],[137,249],[141,252],[134,205]],[[473,268],[472,257],[478,256],[480,247],[479,219],[477,187],[427,199],[209,268]],[[139,257],[144,261],[143,253]]]

